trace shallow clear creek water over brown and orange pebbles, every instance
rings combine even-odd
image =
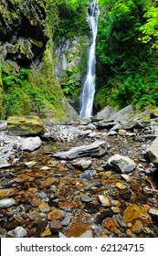
[[[19,226],[26,230],[26,237],[58,237],[61,233],[79,237],[87,230],[91,230],[88,237],[158,236],[157,219],[147,213],[149,208],[158,208],[158,193],[144,188],[153,186],[157,191],[157,181],[148,173],[150,165],[142,157],[143,143],[133,138],[108,138],[111,146],[106,155],[84,157],[92,162],[87,170],[52,156],[80,144],[90,144],[90,139],[43,142],[32,153],[20,152],[19,162],[1,170],[5,192],[1,189],[0,196],[16,200],[12,207],[0,209],[1,236],[14,236],[13,229]],[[142,169],[136,168],[131,180],[124,180],[121,174],[105,168],[114,154],[128,155]],[[105,202],[100,202],[100,196]],[[130,211],[127,216],[124,212],[131,206],[133,214],[134,205],[139,207],[138,215],[128,223]]]

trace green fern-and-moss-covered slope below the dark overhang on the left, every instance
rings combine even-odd
[[[13,66],[12,66],[13,65]],[[52,74],[46,69],[18,69],[15,64],[2,67],[2,118],[36,112],[41,118],[62,118],[62,91]]]

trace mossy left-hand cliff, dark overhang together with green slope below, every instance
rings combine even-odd
[[[54,41],[54,38],[63,37],[58,33],[61,17],[57,3],[51,0],[1,0],[1,118],[35,112],[47,119],[67,118],[61,80],[58,82],[53,73],[58,61],[53,53],[53,48],[58,48],[55,46],[58,40]]]

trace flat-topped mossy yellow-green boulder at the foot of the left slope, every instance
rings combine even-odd
[[[7,128],[12,135],[37,135],[44,132],[45,126],[37,116],[11,116]]]

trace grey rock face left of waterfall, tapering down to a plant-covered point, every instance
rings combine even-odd
[[[79,110],[79,94],[86,73],[86,60],[89,37],[79,35],[70,38],[61,37],[54,42],[54,75],[60,82],[71,104]]]

